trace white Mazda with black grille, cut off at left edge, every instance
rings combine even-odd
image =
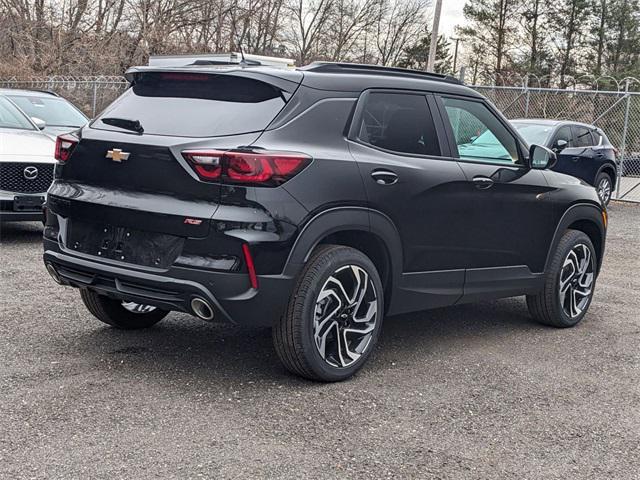
[[[55,142],[0,95],[0,221],[42,219],[54,151]]]

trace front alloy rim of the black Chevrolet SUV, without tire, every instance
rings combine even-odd
[[[574,246],[560,271],[560,305],[569,318],[579,316],[589,304],[595,280],[591,250],[585,244]]]

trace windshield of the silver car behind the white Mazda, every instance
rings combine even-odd
[[[47,122],[48,127],[82,127],[87,119],[69,102],[56,97],[7,95],[30,117]]]

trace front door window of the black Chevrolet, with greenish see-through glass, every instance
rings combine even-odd
[[[442,101],[461,159],[488,163],[519,162],[515,137],[486,105],[457,98],[443,98]]]

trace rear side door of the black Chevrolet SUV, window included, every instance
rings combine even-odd
[[[457,219],[465,206],[457,198],[465,176],[450,157],[438,115],[429,94],[368,90],[349,131],[369,207],[389,217],[400,235],[396,313],[451,304],[462,294],[464,226]]]

